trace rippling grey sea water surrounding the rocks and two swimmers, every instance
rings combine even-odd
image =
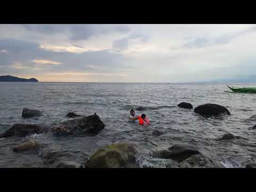
[[[1,138],[0,167],[45,167],[37,154],[12,151],[12,147],[29,139],[67,151],[74,156],[71,160],[78,163],[85,163],[95,150],[105,145],[129,141],[140,147],[137,161],[141,167],[165,167],[166,159],[153,159],[149,154],[177,143],[194,146],[226,167],[245,167],[247,162],[256,160],[256,131],[249,129],[256,122],[244,122],[256,115],[256,94],[224,91],[227,91],[225,84],[0,82],[0,132],[14,123],[51,126],[67,121],[65,116],[71,111],[85,116],[97,113],[106,125],[95,137],[54,138],[45,133]],[[216,103],[225,106],[231,116],[206,118],[194,113],[194,109],[177,107],[180,102],[189,102],[193,107]],[[138,107],[145,108],[135,111],[145,113],[150,126],[129,121],[130,109]],[[43,116],[23,119],[23,108],[41,110]],[[154,130],[164,134],[154,136]],[[241,139],[215,140],[225,133]]]

